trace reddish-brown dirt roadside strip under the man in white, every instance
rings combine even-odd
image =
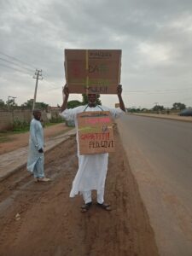
[[[94,205],[82,213],[81,196],[68,197],[78,168],[75,137],[45,154],[51,183],[33,183],[25,168],[0,183],[0,255],[158,255],[117,131],[115,138],[106,184],[112,212]]]

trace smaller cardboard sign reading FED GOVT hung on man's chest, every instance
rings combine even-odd
[[[114,152],[113,121],[108,111],[78,113],[79,154]]]

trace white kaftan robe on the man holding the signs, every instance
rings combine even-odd
[[[108,171],[108,153],[79,155],[77,120],[78,113],[101,110],[109,111],[112,114],[112,118],[117,118],[121,113],[124,113],[120,108],[107,108],[104,106],[96,106],[94,108],[79,106],[77,108],[66,109],[61,113],[65,119],[74,121],[77,130],[76,139],[78,144],[79,169],[73,180],[70,197],[78,195],[79,192],[82,194],[82,192],[90,191],[92,189],[97,190],[99,193],[105,187],[105,179]]]

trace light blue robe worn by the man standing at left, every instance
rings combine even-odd
[[[44,149],[44,130],[40,121],[32,119],[26,165],[27,171],[33,172],[39,159],[41,159],[40,162],[44,164],[44,154],[38,152],[40,148]]]

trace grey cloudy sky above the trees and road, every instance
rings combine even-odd
[[[125,106],[192,106],[191,0],[0,0],[0,99],[61,105],[64,49],[122,49]],[[71,95],[69,100],[79,99]],[[117,96],[102,96],[113,107]]]

